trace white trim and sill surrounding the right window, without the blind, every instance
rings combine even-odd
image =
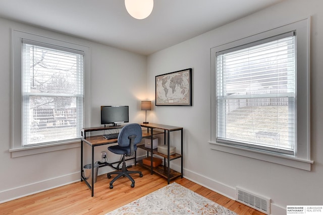
[[[238,47],[254,41],[270,38],[282,33],[296,31],[297,46],[297,146],[296,156],[266,153],[254,149],[229,146],[216,141],[216,53],[222,50]],[[310,87],[309,87],[309,48],[310,48],[310,18],[306,18],[285,26],[245,37],[233,42],[211,48],[211,138],[210,149],[235,155],[254,158],[262,161],[281,164],[310,171]],[[305,72],[304,72],[305,71]],[[301,84],[300,84],[301,83]],[[300,102],[301,101],[301,102]],[[303,114],[305,113],[305,114]]]

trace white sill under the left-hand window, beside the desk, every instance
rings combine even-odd
[[[59,150],[73,149],[81,147],[80,141],[69,141],[69,142],[60,142],[57,144],[49,144],[43,146],[32,146],[32,147],[21,147],[16,149],[10,149],[12,158],[18,158],[29,155],[36,155],[47,152],[54,152]]]

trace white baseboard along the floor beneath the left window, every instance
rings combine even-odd
[[[0,203],[18,199],[31,194],[39,193],[45,190],[50,190],[56,187],[61,187],[81,180],[81,173],[75,172],[68,175],[62,175],[56,178],[51,178],[43,181],[38,181],[32,184],[27,184],[20,187],[14,187],[8,190],[0,191]]]

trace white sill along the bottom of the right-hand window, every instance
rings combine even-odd
[[[294,167],[302,170],[311,170],[311,164],[314,162],[311,160],[303,160],[295,157],[280,156],[274,154],[268,154],[264,152],[258,152],[254,150],[242,149],[234,146],[228,146],[225,144],[220,144],[218,142],[208,142],[212,150],[218,150],[221,152],[231,153],[235,155],[240,155],[248,158],[254,158],[261,161],[267,161],[275,164],[280,164],[288,167]]]

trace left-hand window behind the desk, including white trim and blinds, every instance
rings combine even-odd
[[[13,157],[79,147],[89,48],[16,30],[12,41]]]

